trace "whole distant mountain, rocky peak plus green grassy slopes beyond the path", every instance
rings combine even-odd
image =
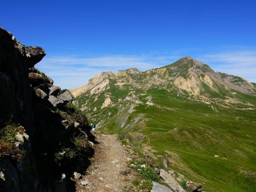
[[[205,190],[253,191],[255,85],[184,57],[146,72],[102,72],[71,91],[98,130],[142,133],[147,148]]]

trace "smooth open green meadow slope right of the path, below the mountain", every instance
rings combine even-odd
[[[209,191],[255,189],[255,178],[241,173],[256,171],[255,111],[216,112],[208,105],[156,94],[153,102],[162,107],[140,106],[136,111],[149,119],[139,131],[147,136],[148,144],[160,154],[171,151],[179,155],[189,167],[179,166],[180,171],[188,178],[195,174],[191,180],[204,183]],[[175,155],[171,158],[175,160]]]

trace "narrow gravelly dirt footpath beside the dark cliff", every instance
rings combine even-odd
[[[99,144],[85,176],[77,181],[76,191],[129,191],[133,180],[132,170],[127,168],[127,151],[116,135],[96,135]],[[85,181],[86,185],[82,185]],[[88,183],[88,184],[87,184]]]

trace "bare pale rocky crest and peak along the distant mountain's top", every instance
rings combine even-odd
[[[131,85],[139,89],[151,89],[154,86],[177,87],[192,95],[204,95],[206,84],[212,91],[218,92],[218,87],[234,89],[246,94],[256,94],[253,84],[247,80],[225,73],[214,72],[203,62],[183,57],[174,64],[158,69],[150,69],[140,72],[137,68],[113,72],[102,72],[89,80],[89,83],[77,89],[71,90],[75,97],[90,90],[90,94],[98,94],[109,89],[110,80],[116,81],[116,86]],[[143,86],[142,86],[143,85]]]

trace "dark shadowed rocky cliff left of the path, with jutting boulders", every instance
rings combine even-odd
[[[34,68],[45,55],[0,28],[0,191],[72,189],[92,155],[73,95]]]

